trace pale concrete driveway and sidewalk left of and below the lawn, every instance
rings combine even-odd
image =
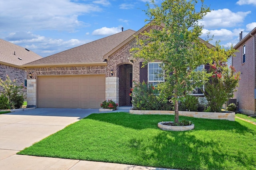
[[[130,107],[118,107],[128,112]],[[36,108],[0,115],[1,170],[170,170],[107,162],[17,155],[16,153],[60,131],[99,109]]]

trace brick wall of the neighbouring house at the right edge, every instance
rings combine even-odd
[[[242,63],[242,47],[246,47],[246,61]],[[237,48],[238,52],[233,57],[233,66],[236,72],[240,72],[239,87],[234,92],[240,111],[254,114],[254,37],[250,37],[244,44]]]

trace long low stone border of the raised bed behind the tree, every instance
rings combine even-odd
[[[174,111],[168,110],[130,110],[130,113],[138,115],[174,115]],[[204,119],[224,119],[235,121],[235,112],[179,111],[179,115]]]

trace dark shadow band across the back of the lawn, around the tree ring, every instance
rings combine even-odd
[[[194,123],[195,125],[194,131],[225,130],[225,131],[232,131],[234,133],[239,133],[240,135],[244,133],[255,134],[255,131],[253,131],[252,129],[249,129],[244,125],[241,125],[237,121],[202,119],[202,118],[185,117],[185,116],[179,116],[179,118],[180,120],[186,119]],[[115,125],[121,125],[124,127],[133,128],[133,129],[146,129],[146,128],[158,129],[157,127],[158,122],[174,121],[174,115],[133,115],[126,112],[117,112],[117,113],[92,114],[84,119],[104,121],[108,123],[113,123]]]

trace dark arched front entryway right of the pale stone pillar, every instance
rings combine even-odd
[[[119,106],[132,105],[130,89],[132,88],[132,65],[121,64],[118,66],[119,76]]]

